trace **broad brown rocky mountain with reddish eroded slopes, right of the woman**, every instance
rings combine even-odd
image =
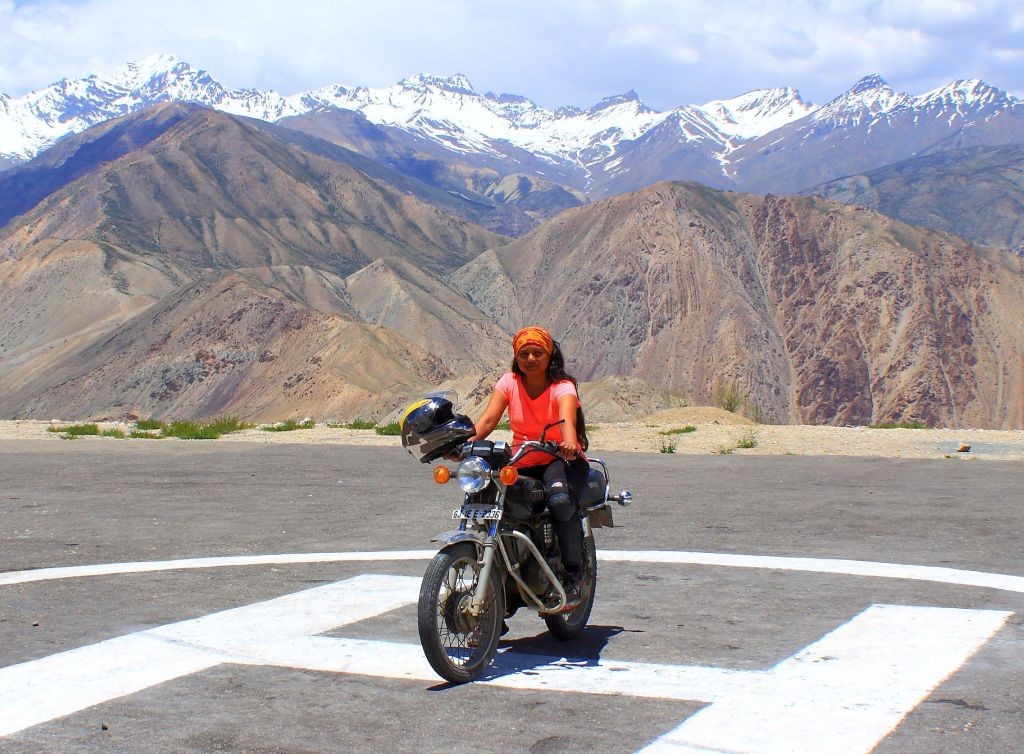
[[[455,282],[549,325],[585,379],[781,422],[1024,426],[1022,260],[818,198],[659,183],[568,210]],[[513,293],[514,292],[514,293]]]

